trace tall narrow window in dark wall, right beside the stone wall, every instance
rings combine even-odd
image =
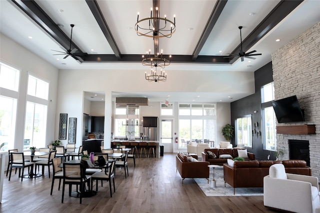
[[[275,115],[271,101],[274,100],[273,82],[261,87],[263,149],[275,151]]]

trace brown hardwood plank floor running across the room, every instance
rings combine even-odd
[[[68,197],[66,187],[61,204],[61,190],[45,170],[44,177],[23,179],[18,175],[4,178],[2,213],[274,213],[263,206],[263,196],[206,197],[193,179],[181,177],[175,170],[175,154],[160,158],[136,158],[129,162],[129,176],[116,168],[115,193],[110,198],[109,185],[100,182],[98,194],[91,198]],[[27,170],[25,170],[27,172]],[[5,175],[5,174],[4,174]],[[95,184],[93,185],[95,189]],[[75,187],[73,187],[75,190]]]

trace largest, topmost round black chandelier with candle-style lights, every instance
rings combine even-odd
[[[167,19],[166,15],[164,15],[164,18],[161,18],[158,12],[158,7],[155,7],[155,13],[153,15],[154,17],[152,17],[152,7],[150,17],[139,20],[138,12],[136,23],[134,25],[136,34],[139,36],[143,35],[153,38],[170,38],[171,35],[175,32],[175,15],[173,15],[173,21]]]

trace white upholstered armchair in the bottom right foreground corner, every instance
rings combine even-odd
[[[274,164],[263,178],[263,203],[289,212],[315,213],[320,208],[318,179],[285,173],[282,164]]]

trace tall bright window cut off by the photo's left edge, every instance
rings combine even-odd
[[[20,71],[0,63],[0,151],[14,148]]]

